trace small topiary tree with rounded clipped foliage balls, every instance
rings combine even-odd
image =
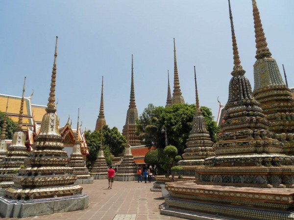
[[[180,161],[182,157],[180,155],[177,155],[178,151],[176,147],[172,145],[166,146],[163,150],[163,153],[167,155],[166,163],[163,165],[163,169],[167,171],[166,177],[172,174],[173,182],[175,173],[182,170],[181,167],[175,166],[176,162]]]

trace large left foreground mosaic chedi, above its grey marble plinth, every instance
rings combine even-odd
[[[14,185],[6,190],[6,198],[39,199],[73,196],[82,193],[82,187],[73,185],[76,176],[63,151],[62,137],[58,132],[55,106],[57,37],[51,87],[46,114],[43,116],[39,134],[35,137],[33,150],[28,153],[27,166],[14,177]],[[29,190],[28,190],[29,189]]]

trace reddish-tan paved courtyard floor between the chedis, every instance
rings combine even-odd
[[[24,220],[180,220],[180,218],[160,215],[158,206],[164,199],[161,193],[150,191],[152,185],[153,182],[115,181],[112,189],[107,189],[108,180],[97,179],[93,184],[81,185],[83,193],[89,195],[87,209],[24,218]]]

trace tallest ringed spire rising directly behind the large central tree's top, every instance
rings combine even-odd
[[[177,63],[176,63],[176,53],[175,53],[175,41],[173,38],[173,62],[174,62],[174,71],[173,71],[173,93],[172,93],[172,105],[173,104],[184,104],[184,98],[182,96],[182,92],[180,89],[180,81],[179,75],[177,70]]]

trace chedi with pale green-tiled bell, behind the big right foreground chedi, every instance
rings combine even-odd
[[[278,133],[283,153],[294,154],[294,99],[283,82],[279,67],[271,57],[256,2],[253,2],[256,56],[253,95],[270,122],[269,130]]]

